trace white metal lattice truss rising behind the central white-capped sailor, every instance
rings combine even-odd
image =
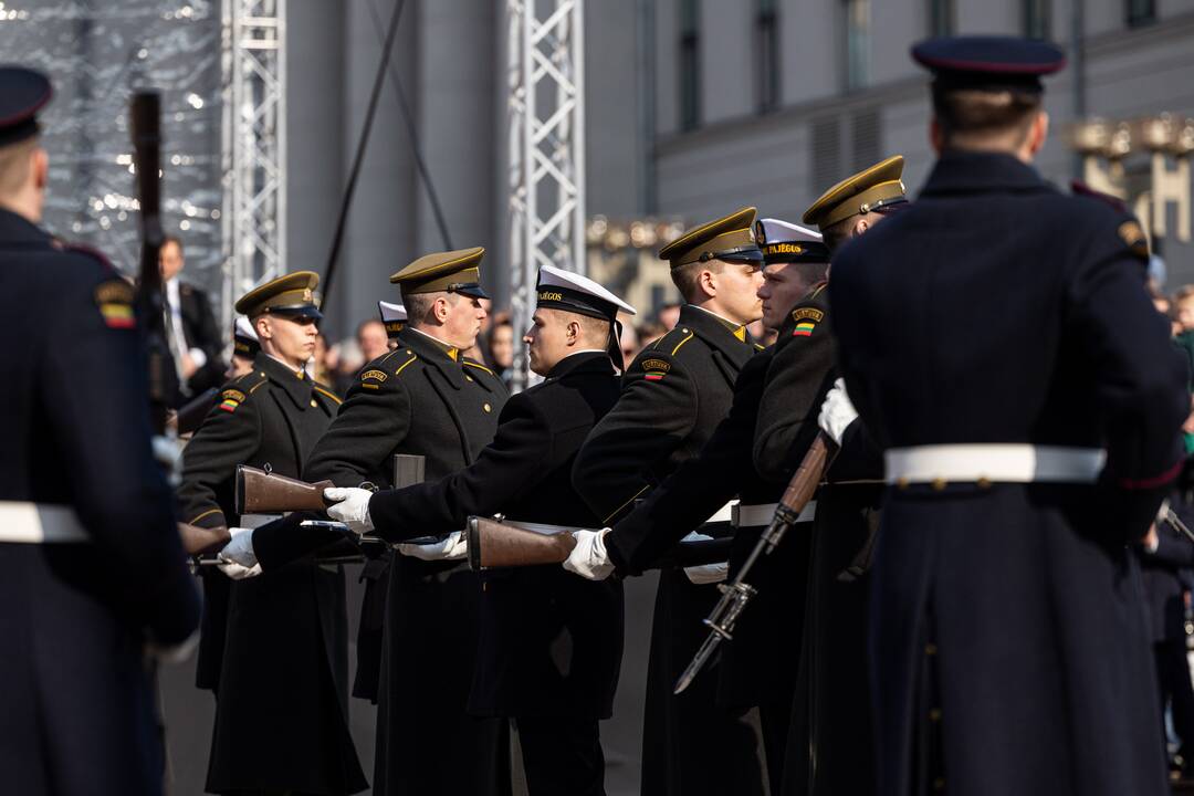
[[[584,273],[584,4],[507,0],[511,313],[530,326],[542,265]],[[515,389],[533,376],[525,346]]]

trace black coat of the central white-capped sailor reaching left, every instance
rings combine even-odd
[[[433,482],[378,493],[369,505],[376,533],[401,541],[462,529],[469,516],[592,527],[597,518],[572,488],[572,462],[593,424],[617,401],[618,382],[605,352],[560,362],[548,378],[506,402],[493,443],[469,467]],[[622,661],[622,584],[592,582],[560,567],[525,567],[482,575],[478,665],[469,710],[531,720],[564,734],[613,711]],[[570,721],[565,721],[570,720]],[[533,792],[556,792],[566,761],[536,755],[523,733]],[[546,763],[546,769],[543,764]],[[584,783],[567,792],[596,792]]]

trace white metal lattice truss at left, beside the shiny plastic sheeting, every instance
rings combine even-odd
[[[285,271],[285,0],[223,0],[223,313]]]

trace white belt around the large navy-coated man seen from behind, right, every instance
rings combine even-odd
[[[1097,448],[983,444],[917,445],[885,453],[887,483],[1091,483],[1107,463]]]

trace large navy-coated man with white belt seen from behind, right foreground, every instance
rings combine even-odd
[[[1052,44],[931,39],[938,154],[835,257],[845,389],[885,450],[880,794],[1167,792],[1140,579],[1189,403],[1140,226],[1033,160]]]

